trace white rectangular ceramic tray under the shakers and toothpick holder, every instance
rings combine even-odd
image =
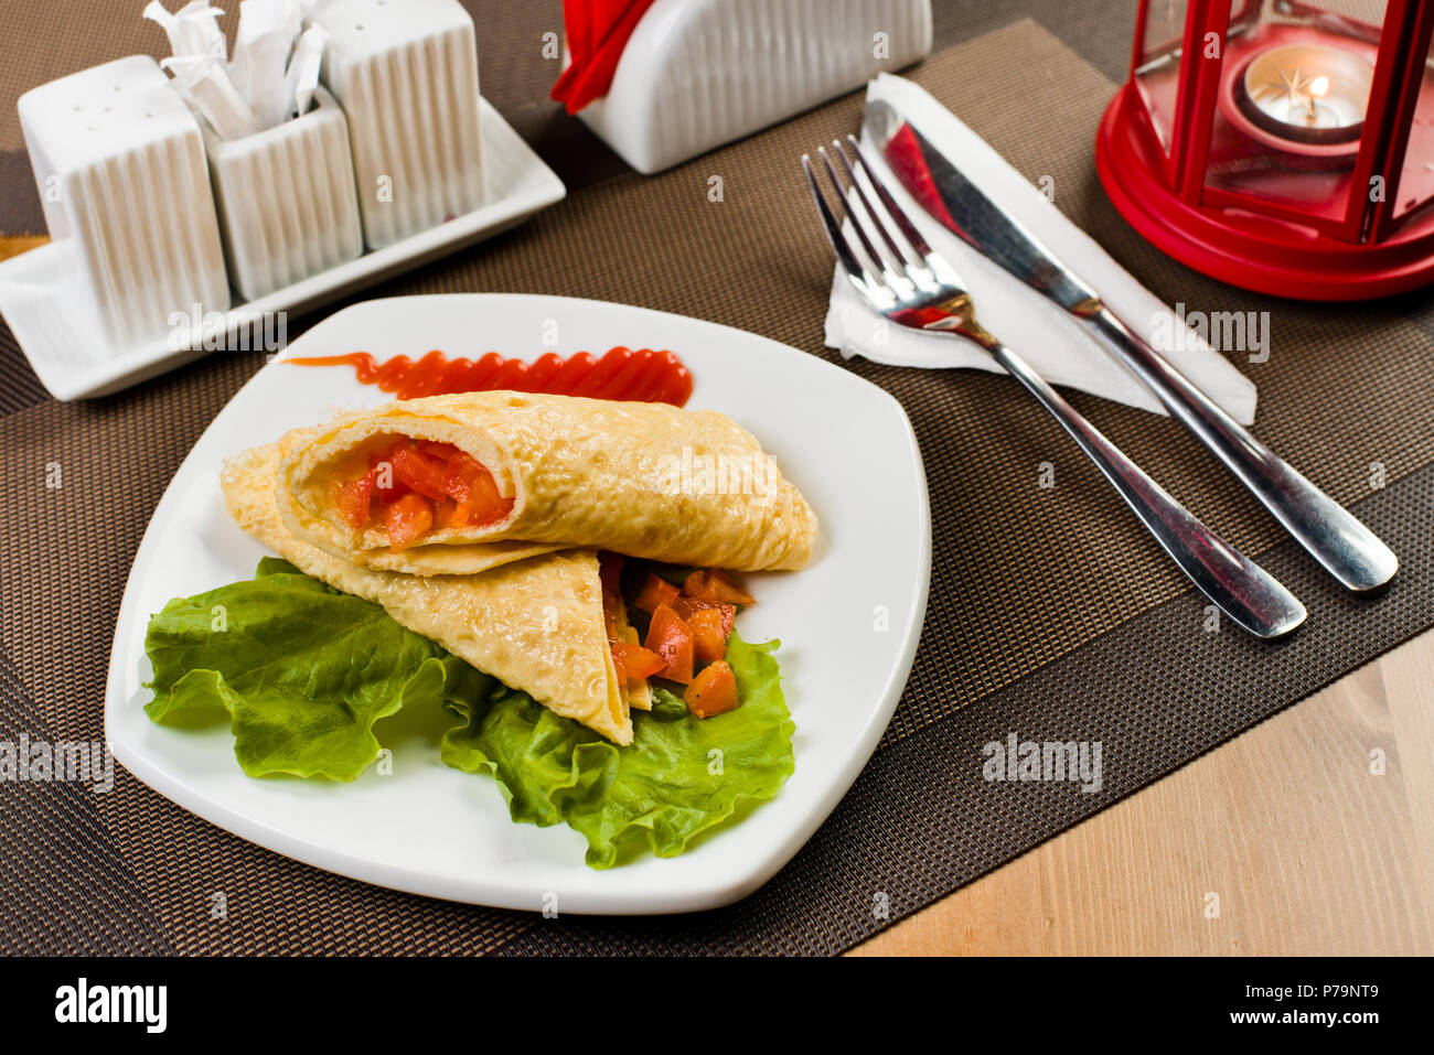
[[[340,264],[301,282],[215,314],[198,335],[176,333],[132,347],[112,347],[98,314],[82,307],[67,242],[50,242],[0,262],[0,314],[34,373],[60,400],[103,396],[211,354],[265,330],[271,312],[304,311],[402,271],[482,241],[522,222],[566,194],[562,181],[502,115],[480,99],[479,130],[488,201],[446,224]],[[205,350],[208,345],[208,350]],[[252,345],[251,345],[252,347]]]

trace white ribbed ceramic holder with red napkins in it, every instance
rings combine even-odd
[[[651,175],[931,53],[931,0],[657,0],[578,116]]]

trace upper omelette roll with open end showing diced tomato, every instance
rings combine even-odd
[[[817,530],[806,499],[749,431],[661,403],[432,396],[338,417],[285,449],[280,497],[305,540],[419,575],[432,572],[410,553],[432,559],[452,546],[445,569],[456,573],[490,560],[493,543],[796,569]],[[414,519],[369,497],[386,470],[423,495],[400,499]]]

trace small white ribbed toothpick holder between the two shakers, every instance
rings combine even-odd
[[[204,125],[229,278],[257,300],[363,252],[348,122],[328,92],[242,139]]]

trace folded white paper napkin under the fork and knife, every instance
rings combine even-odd
[[[896,108],[936,148],[956,161],[971,182],[1034,232],[1100,294],[1126,325],[1150,341],[1206,396],[1242,424],[1255,420],[1255,386],[1094,239],[1065,219],[1045,195],[951,110],[905,77],[888,73],[870,82],[866,99],[883,99]],[[869,156],[880,166],[882,178],[931,247],[951,261],[965,280],[975,300],[977,318],[987,330],[1053,384],[1157,414],[1166,413],[1154,394],[1106,353],[1084,327],[928,216],[875,151]],[[1055,191],[1058,194],[1058,188]],[[827,347],[839,348],[847,358],[862,355],[889,366],[974,367],[1001,373],[1001,367],[974,344],[880,323],[837,268],[826,315]]]

